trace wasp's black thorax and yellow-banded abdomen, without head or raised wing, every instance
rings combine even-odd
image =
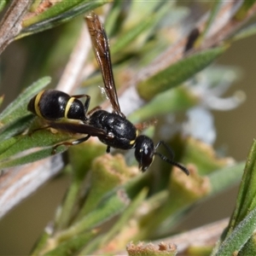
[[[86,97],[84,104],[79,101],[80,97]],[[69,96],[60,90],[43,90],[32,97],[27,109],[60,130],[87,133],[90,127],[90,136],[99,137],[108,145],[108,151],[110,148],[134,148],[137,129],[129,120],[100,108],[87,114],[89,104],[87,95]]]

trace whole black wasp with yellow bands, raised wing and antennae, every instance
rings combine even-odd
[[[143,172],[151,165],[154,155],[159,155],[162,160],[166,160],[189,174],[184,166],[156,151],[156,148],[163,144],[172,155],[172,150],[166,143],[160,141],[154,146],[151,138],[138,135],[136,126],[125,118],[119,108],[106,32],[95,13],[91,12],[85,20],[89,27],[96,60],[102,71],[105,91],[112,105],[113,113],[108,113],[100,107],[93,108],[88,112],[90,96],[69,96],[60,90],[39,92],[28,103],[28,110],[46,120],[49,127],[71,133],[86,134],[85,137],[72,143],[62,144],[75,145],[83,143],[89,137],[98,137],[102,143],[107,145],[107,152],[110,151],[110,148],[125,150],[135,148],[135,157]],[[79,100],[82,97],[85,98],[84,104]]]

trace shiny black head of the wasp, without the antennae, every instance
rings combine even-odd
[[[154,160],[154,143],[151,138],[141,135],[136,139],[135,157],[139,168],[145,172]]]

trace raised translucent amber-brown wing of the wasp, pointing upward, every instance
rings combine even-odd
[[[85,16],[85,20],[89,28],[96,60],[102,71],[102,79],[105,85],[106,94],[113,108],[113,113],[125,117],[119,107],[119,100],[113,79],[108,37],[105,29],[102,26],[99,17],[94,12],[90,12],[89,15]]]

